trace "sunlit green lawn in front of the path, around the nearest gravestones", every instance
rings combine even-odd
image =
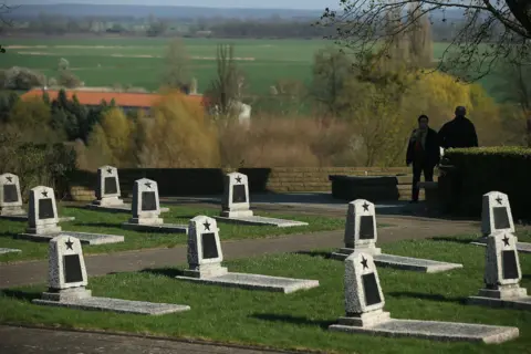
[[[316,279],[321,285],[293,294],[223,289],[173,279],[180,268],[93,278],[96,296],[188,304],[191,311],[159,317],[38,306],[30,303],[45,285],[0,294],[0,322],[76,329],[101,329],[174,337],[207,339],[277,348],[326,353],[529,353],[531,312],[465,305],[482,287],[485,248],[471,238],[444,238],[384,244],[387,253],[460,262],[464,269],[419,273],[381,268],[385,309],[395,319],[439,320],[517,326],[520,337],[501,345],[386,339],[326,331],[344,314],[343,262],[330,250],[226,262],[230,271]],[[531,256],[520,254],[523,287],[531,288]]]

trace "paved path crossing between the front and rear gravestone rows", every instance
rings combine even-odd
[[[378,229],[378,244],[404,239],[421,239],[435,236],[476,233],[479,223],[447,222],[431,219],[378,218],[378,222],[393,225]],[[479,236],[479,235],[478,235]],[[319,248],[334,248],[343,244],[343,230],[305,235],[290,235],[270,239],[222,241],[223,258],[237,259],[266,253],[311,251]],[[145,268],[164,268],[186,264],[186,246],[170,249],[149,249],[110,254],[85,256],[90,275],[112,272],[137,271]],[[29,261],[15,264],[0,264],[0,289],[32,283],[45,283],[48,261]]]

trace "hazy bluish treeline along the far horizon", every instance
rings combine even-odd
[[[38,18],[24,21],[15,20],[12,27],[0,27],[1,32],[43,33],[63,35],[72,33],[85,34],[121,34],[146,37],[207,37],[207,38],[274,38],[274,39],[314,39],[333,35],[333,27],[317,27],[308,19],[285,20],[270,18],[262,20],[241,19],[195,19],[168,20],[155,17],[137,18],[67,18],[42,13]],[[451,39],[460,27],[459,21],[451,24],[435,21],[431,31],[437,42]]]

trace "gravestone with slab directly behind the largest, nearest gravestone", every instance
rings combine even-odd
[[[377,229],[374,204],[365,199],[356,199],[348,202],[348,210],[346,211],[345,247],[336,252],[332,252],[331,258],[345,260],[354,252],[363,252],[373,256],[374,262],[378,266],[427,273],[462,268],[462,264],[457,263],[384,254],[379,248],[376,248],[376,240]]]

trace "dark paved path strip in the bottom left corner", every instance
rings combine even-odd
[[[266,354],[288,353],[175,340],[0,326],[2,354]]]

